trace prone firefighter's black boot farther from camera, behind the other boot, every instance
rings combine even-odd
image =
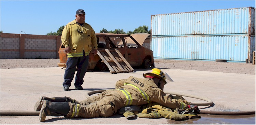
[[[39,100],[35,103],[35,106],[34,106],[34,111],[40,111],[41,107],[42,107],[42,101],[43,100],[48,100],[50,102],[72,102],[72,103],[78,103],[76,100],[74,99],[71,99],[70,97],[53,97],[53,98],[49,98],[49,97],[46,97],[46,96],[41,96],[39,98]]]

